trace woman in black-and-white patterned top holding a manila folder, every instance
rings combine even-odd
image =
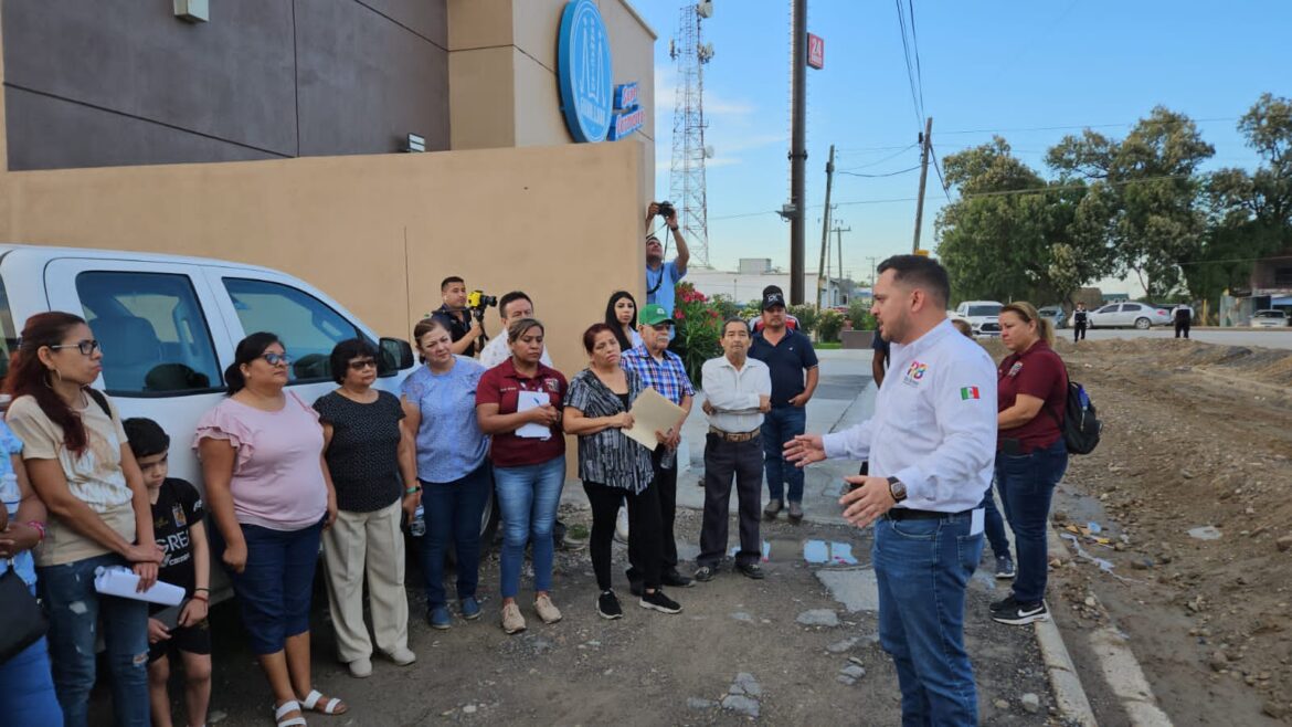
[[[629,547],[645,555],[645,591],[641,607],[678,613],[682,607],[660,590],[664,546],[660,539],[659,490],[654,486],[651,453],[628,439],[633,426],[633,400],[645,385],[633,371],[619,366],[619,340],[614,329],[596,323],[583,334],[589,366],[570,382],[565,398],[565,431],[579,437],[579,479],[592,505],[592,567],[597,573],[597,612],[619,618],[623,608],[611,589],[610,543],[619,506],[628,499]]]

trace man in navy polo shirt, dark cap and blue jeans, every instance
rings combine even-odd
[[[770,499],[762,511],[767,520],[789,501],[789,521],[804,517],[804,472],[784,461],[786,442],[804,433],[808,400],[817,391],[817,352],[800,331],[786,327],[786,298],[779,290],[762,296],[762,330],[753,336],[749,357],[771,371],[771,411],[762,422],[762,455]],[[786,485],[789,492],[786,493]]]

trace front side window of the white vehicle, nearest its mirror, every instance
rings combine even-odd
[[[292,357],[293,382],[332,380],[332,348],[363,334],[326,303],[282,283],[225,278],[238,320],[248,335],[278,334]]]

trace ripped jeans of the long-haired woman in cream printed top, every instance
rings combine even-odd
[[[94,569],[127,565],[115,554],[97,555],[63,565],[36,569],[36,589],[49,608],[49,656],[54,689],[67,727],[89,719],[89,692],[94,687],[94,642],[99,620],[112,674],[115,724],[149,726],[149,604],[105,596],[94,590]]]

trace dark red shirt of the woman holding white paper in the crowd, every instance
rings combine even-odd
[[[566,385],[561,371],[543,364],[539,364],[539,370],[532,378],[522,376],[508,357],[481,376],[481,383],[475,387],[475,406],[496,404],[499,414],[516,414],[521,392],[537,391],[547,393],[552,406],[559,411]],[[565,454],[565,433],[561,432],[559,424],[552,427],[552,436],[547,440],[518,437],[516,432],[494,435],[494,446],[490,449],[490,459],[497,467],[543,464],[562,454]]]

